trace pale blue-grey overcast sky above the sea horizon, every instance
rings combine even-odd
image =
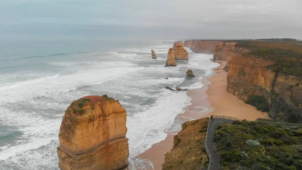
[[[3,39],[302,39],[301,0],[0,0]]]

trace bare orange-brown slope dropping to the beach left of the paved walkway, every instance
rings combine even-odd
[[[208,163],[204,140],[209,118],[202,118],[182,125],[174,136],[172,150],[165,154],[163,170],[201,169]]]

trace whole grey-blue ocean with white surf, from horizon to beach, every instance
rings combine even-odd
[[[217,63],[193,53],[177,67],[164,67],[174,41],[12,40],[0,42],[0,169],[59,169],[58,133],[64,110],[87,95],[107,94],[125,107],[131,169],[137,155],[167,133],[190,105],[185,91],[201,88]],[[154,49],[158,59],[152,60]],[[187,78],[192,69],[195,78]],[[168,79],[165,79],[168,77]],[[143,160],[145,161],[145,160]]]

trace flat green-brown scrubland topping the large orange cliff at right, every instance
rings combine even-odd
[[[295,39],[237,40],[236,47],[247,48],[243,56],[256,56],[272,61],[270,70],[302,78],[302,45]]]

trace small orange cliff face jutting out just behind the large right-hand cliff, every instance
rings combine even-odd
[[[214,50],[214,61],[226,61],[228,60],[228,53],[231,48],[236,45],[235,42],[219,42]]]

